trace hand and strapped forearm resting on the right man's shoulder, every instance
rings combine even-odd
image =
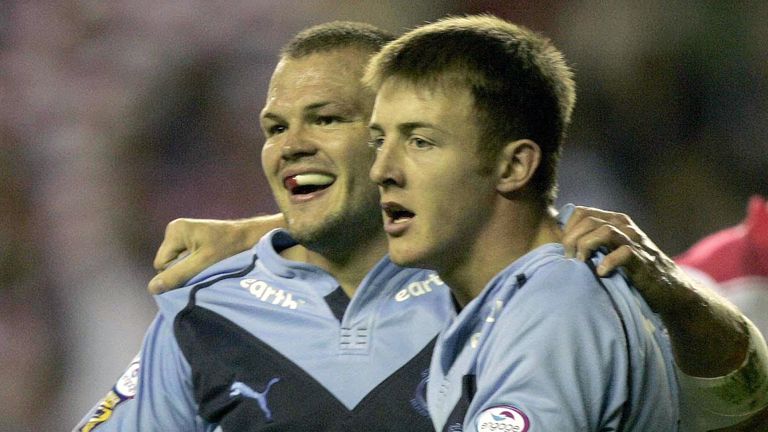
[[[664,321],[687,401],[681,430],[768,430],[768,349],[738,309],[688,276],[626,215],[577,208],[566,231],[571,256],[586,259],[608,246],[598,274],[622,267]]]

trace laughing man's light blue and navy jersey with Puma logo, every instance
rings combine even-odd
[[[431,430],[427,370],[454,316],[442,281],[385,258],[349,300],[279,255],[295,244],[274,231],[157,296],[141,355],[77,430]]]

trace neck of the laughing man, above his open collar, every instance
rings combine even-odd
[[[336,245],[332,251],[316,251],[302,245],[284,250],[281,255],[292,261],[316,265],[330,273],[341,289],[352,298],[369,271],[387,253],[387,239],[379,229],[359,236],[354,245]]]

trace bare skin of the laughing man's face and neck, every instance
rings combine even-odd
[[[261,113],[262,167],[291,235],[286,258],[325,269],[348,295],[386,253],[378,193],[365,145],[373,96],[360,78],[367,53],[343,48],[280,61]],[[294,193],[286,179],[323,174],[333,183]]]

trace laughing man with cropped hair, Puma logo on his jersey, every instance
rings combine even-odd
[[[383,258],[368,179],[361,77],[387,40],[330,23],[283,50],[262,165],[288,231],[157,296],[140,357],[78,430],[432,429],[423,389],[450,300],[434,274]]]

